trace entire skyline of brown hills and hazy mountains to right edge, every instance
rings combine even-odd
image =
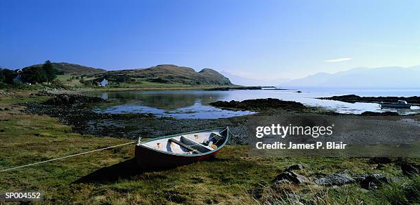
[[[277,80],[256,80],[232,73],[202,69],[199,72],[189,67],[178,67],[173,64],[161,64],[147,69],[124,69],[106,71],[85,67],[80,64],[67,62],[53,62],[54,68],[60,73],[78,75],[91,75],[106,77],[106,75],[126,74],[136,79],[150,82],[180,83],[180,84],[215,84],[215,85],[242,85],[242,86],[282,86],[282,87],[325,87],[325,88],[358,88],[358,87],[382,87],[382,88],[410,88],[420,87],[420,66],[416,67],[358,67],[349,71],[338,73],[316,73],[307,77],[289,80],[281,78]],[[33,66],[40,67],[42,64]]]

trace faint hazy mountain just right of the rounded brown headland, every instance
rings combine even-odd
[[[279,78],[276,80],[257,80],[248,77],[241,77],[227,71],[221,71],[220,73],[225,77],[228,77],[233,84],[242,86],[277,86],[279,83],[287,82],[290,80],[288,78]]]

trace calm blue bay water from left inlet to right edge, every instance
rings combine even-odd
[[[345,103],[341,101],[320,100],[316,97],[355,94],[360,96],[401,96],[410,97],[420,94],[420,89],[338,89],[338,88],[299,88],[296,90],[263,90],[263,91],[123,91],[100,93],[104,99],[119,99],[119,104],[107,108],[95,108],[96,112],[108,113],[153,113],[163,117],[217,119],[223,117],[252,114],[249,111],[222,110],[209,106],[212,101],[241,101],[244,99],[278,98],[288,101],[299,101],[308,106],[322,106],[340,113],[360,114],[364,111],[399,112],[411,114],[420,112],[419,107],[412,109],[381,109],[373,103]],[[389,93],[389,94],[386,94]]]

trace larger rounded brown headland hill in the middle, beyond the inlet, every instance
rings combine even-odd
[[[181,83],[190,85],[217,84],[231,85],[229,78],[224,77],[213,69],[202,69],[200,72],[189,67],[178,67],[173,64],[161,64],[148,69],[129,69],[119,71],[108,71],[97,74],[97,77],[104,75],[123,75],[139,80],[159,83]]]

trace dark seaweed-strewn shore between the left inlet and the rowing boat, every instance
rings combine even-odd
[[[246,135],[246,117],[174,119],[156,117],[154,114],[108,114],[94,112],[94,106],[98,104],[106,104],[106,101],[99,97],[60,94],[43,103],[30,102],[21,105],[26,107],[23,112],[57,117],[60,123],[71,125],[73,132],[80,134],[137,139],[139,136],[149,138],[229,126],[234,133],[229,143],[246,144],[243,137]]]

